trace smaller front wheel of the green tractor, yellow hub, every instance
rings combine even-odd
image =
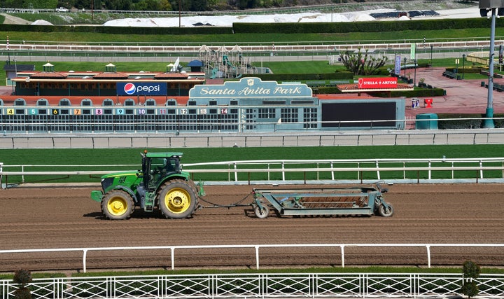
[[[102,199],[102,211],[112,220],[130,218],[133,208],[133,198],[123,190],[111,190]]]

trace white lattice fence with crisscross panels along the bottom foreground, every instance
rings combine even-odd
[[[34,279],[33,298],[445,298],[461,293],[462,274],[176,274]],[[475,279],[477,298],[504,298],[504,275]],[[2,299],[18,288],[1,280]]]

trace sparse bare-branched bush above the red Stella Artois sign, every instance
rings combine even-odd
[[[377,74],[378,69],[383,67],[388,61],[386,56],[381,58],[372,57],[369,52],[364,51],[363,53],[360,51],[360,48],[358,48],[356,53],[346,49],[344,53],[339,54],[339,57],[346,69],[354,75],[363,76]]]

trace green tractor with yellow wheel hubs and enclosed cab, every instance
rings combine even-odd
[[[130,218],[135,206],[153,211],[157,205],[166,218],[187,218],[198,207],[195,183],[180,165],[182,153],[141,153],[142,169],[102,176],[102,190],[91,199],[102,204],[104,215],[113,220]]]

